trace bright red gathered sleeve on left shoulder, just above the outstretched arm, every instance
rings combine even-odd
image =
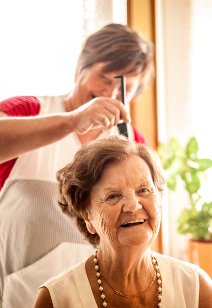
[[[15,96],[0,102],[0,110],[12,116],[37,115],[40,104],[34,96]]]

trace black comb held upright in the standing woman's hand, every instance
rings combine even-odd
[[[119,99],[125,105],[125,100],[126,100],[125,76],[120,75],[114,78],[117,79],[116,80],[116,89],[117,89],[116,99]],[[120,120],[120,123],[117,126],[118,126],[119,133],[121,135],[128,137],[127,124],[124,123],[124,121]]]

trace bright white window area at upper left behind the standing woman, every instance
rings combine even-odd
[[[74,83],[85,37],[107,23],[126,23],[121,0],[0,2],[0,101],[15,95],[61,95]]]

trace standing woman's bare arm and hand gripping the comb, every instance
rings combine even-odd
[[[120,117],[126,123],[131,121],[123,103],[105,97],[92,99],[71,112],[44,116],[11,117],[0,111],[0,162],[52,144],[71,132],[109,129]]]

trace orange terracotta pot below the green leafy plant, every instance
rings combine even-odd
[[[201,267],[212,279],[212,239],[208,241],[190,239],[188,255],[190,263]]]

